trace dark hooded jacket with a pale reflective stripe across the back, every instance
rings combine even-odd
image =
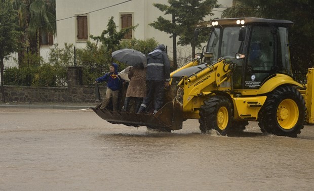
[[[147,56],[147,81],[170,81],[170,62],[165,45],[158,45]]]

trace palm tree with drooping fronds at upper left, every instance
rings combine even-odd
[[[38,54],[41,34],[56,34],[56,0],[13,0],[13,5],[23,32],[18,52],[20,64],[27,46],[32,54]]]

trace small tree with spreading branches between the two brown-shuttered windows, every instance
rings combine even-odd
[[[103,30],[100,36],[90,35],[90,37],[93,40],[96,40],[97,43],[101,42],[102,45],[105,46],[107,54],[111,57],[111,53],[117,49],[125,34],[127,34],[130,30],[135,30],[137,26],[138,25],[123,28],[118,32],[116,31],[117,26],[113,21],[113,17],[111,17],[108,21],[107,29]]]

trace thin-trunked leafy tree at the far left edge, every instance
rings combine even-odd
[[[15,24],[16,12],[10,0],[0,1],[0,68],[1,90],[3,102],[6,102],[4,92],[4,59],[18,48],[18,26]]]

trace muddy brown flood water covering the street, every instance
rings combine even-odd
[[[91,110],[0,109],[0,190],[313,190],[314,126],[297,138],[113,125]]]

